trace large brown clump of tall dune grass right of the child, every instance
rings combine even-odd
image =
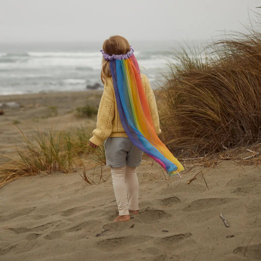
[[[160,93],[169,149],[194,156],[260,142],[261,34],[236,33],[204,54],[190,51],[174,51],[178,62]]]

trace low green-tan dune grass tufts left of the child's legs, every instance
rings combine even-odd
[[[25,136],[20,129],[19,131],[23,146],[17,148],[17,157],[0,166],[0,187],[21,176],[35,175],[42,171],[73,172],[75,168],[84,165],[83,158],[89,154],[94,157],[94,163],[101,164],[104,149],[100,148],[96,152],[89,146],[91,133],[84,127],[67,131],[36,130],[31,137]]]

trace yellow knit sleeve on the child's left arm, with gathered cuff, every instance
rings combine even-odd
[[[100,146],[111,135],[113,124],[112,121],[115,117],[115,99],[113,92],[113,84],[110,79],[104,85],[103,94],[101,96],[96,129],[93,131],[93,137],[90,142]]]

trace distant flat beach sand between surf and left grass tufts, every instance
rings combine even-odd
[[[28,95],[0,96],[0,104],[16,102],[19,108],[3,108],[0,115],[0,164],[6,162],[4,156],[15,153],[15,145],[22,143],[18,126],[25,135],[33,130],[84,126],[93,129],[95,119],[75,117],[76,108],[98,106],[101,91],[43,93]],[[0,107],[1,109],[1,107]]]

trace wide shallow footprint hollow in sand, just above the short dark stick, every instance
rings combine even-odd
[[[234,201],[233,198],[201,198],[194,200],[183,211],[198,211],[214,208],[223,204]]]

